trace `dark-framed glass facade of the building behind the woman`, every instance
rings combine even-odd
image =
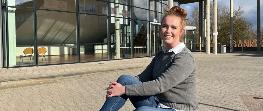
[[[168,0],[1,2],[6,68],[151,56],[168,7]]]

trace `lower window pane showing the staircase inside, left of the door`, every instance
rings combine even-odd
[[[149,22],[134,21],[134,57],[149,56]]]

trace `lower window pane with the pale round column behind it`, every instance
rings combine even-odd
[[[131,57],[131,24],[130,19],[111,18],[112,58]]]

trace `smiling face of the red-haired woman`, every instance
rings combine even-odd
[[[161,26],[162,40],[165,41],[166,46],[173,48],[180,44],[180,36],[184,32],[184,29],[181,31],[181,20],[172,16],[163,19]]]

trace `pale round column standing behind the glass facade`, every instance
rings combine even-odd
[[[116,3],[119,3],[119,0],[116,0]],[[119,4],[115,4],[116,17],[119,17]],[[115,53],[116,58],[120,58],[120,18],[115,18]]]

